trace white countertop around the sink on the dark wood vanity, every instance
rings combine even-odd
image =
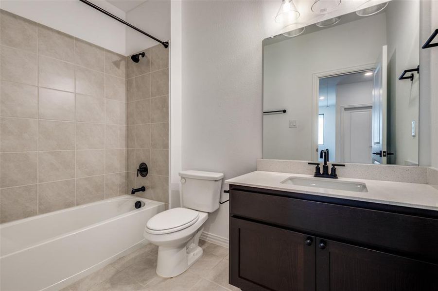
[[[313,194],[438,211],[438,189],[428,184],[389,182],[356,178],[337,179],[339,181],[362,182],[367,185],[368,192],[352,192],[280,183],[289,177],[313,178],[312,175],[255,171],[228,179],[225,182],[240,186]]]

